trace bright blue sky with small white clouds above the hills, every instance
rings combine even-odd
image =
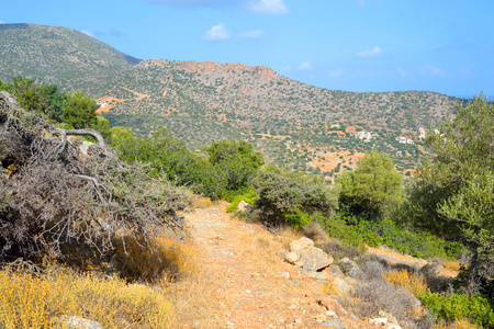
[[[494,98],[492,0],[15,0],[0,22],[76,29],[131,56],[263,65],[346,91]]]

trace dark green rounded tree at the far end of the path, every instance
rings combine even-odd
[[[210,163],[215,168],[224,197],[239,194],[250,185],[259,167],[265,162],[260,152],[254,151],[251,144],[233,139],[213,141],[211,147],[204,149]]]

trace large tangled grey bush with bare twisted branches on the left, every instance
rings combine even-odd
[[[5,101],[7,100],[7,101]],[[67,134],[91,135],[99,146],[89,157],[68,143]],[[67,260],[79,254],[103,256],[119,240],[133,237],[154,248],[161,227],[182,228],[176,211],[188,204],[186,191],[149,178],[139,163],[128,166],[104,147],[93,131],[64,131],[25,112],[0,94],[0,258],[54,254]],[[71,248],[63,248],[70,246]]]

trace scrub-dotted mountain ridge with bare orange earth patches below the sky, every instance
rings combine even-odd
[[[355,167],[371,147],[398,169],[413,168],[424,152],[418,129],[438,126],[460,101],[429,91],[327,90],[262,66],[141,60],[75,30],[0,24],[0,79],[16,75],[85,91],[105,104],[100,111],[113,125],[136,135],[165,126],[192,148],[243,138],[269,161],[323,172]]]

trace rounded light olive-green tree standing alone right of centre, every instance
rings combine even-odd
[[[403,197],[403,177],[394,169],[393,160],[372,149],[357,164],[336,179],[341,185],[340,203],[356,215],[368,218],[385,215]]]

